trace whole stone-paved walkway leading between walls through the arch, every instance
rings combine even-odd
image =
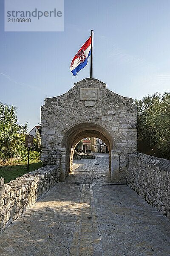
[[[170,256],[170,222],[125,185],[108,154],[76,160],[58,183],[0,235],[0,256]]]

